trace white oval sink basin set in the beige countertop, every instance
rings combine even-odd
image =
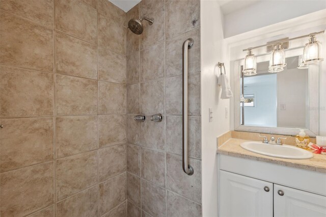
[[[288,159],[308,159],[313,154],[302,148],[290,145],[271,145],[262,142],[244,142],[240,146],[248,151],[263,154],[271,157],[280,157]]]

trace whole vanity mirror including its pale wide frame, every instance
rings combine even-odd
[[[240,73],[243,60],[235,61],[235,130],[296,134],[319,130],[319,66],[298,69],[300,56],[287,57],[284,71],[268,72],[266,57],[257,61],[257,74]]]

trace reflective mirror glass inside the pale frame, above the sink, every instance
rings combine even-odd
[[[308,69],[297,69],[298,57],[286,62],[278,73],[268,72],[268,61],[254,76],[241,73],[241,125],[309,129]]]

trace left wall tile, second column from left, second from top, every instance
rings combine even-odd
[[[97,46],[56,33],[57,73],[97,79]]]

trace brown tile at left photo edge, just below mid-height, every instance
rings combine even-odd
[[[1,172],[53,159],[52,118],[2,119]]]

